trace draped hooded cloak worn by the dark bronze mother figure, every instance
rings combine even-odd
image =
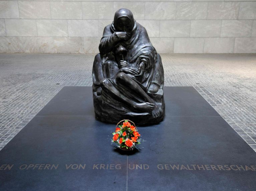
[[[156,52],[156,49],[153,47],[153,45],[150,42],[148,33],[146,29],[137,23],[133,16],[129,13],[119,13],[115,14],[114,21],[112,24],[105,27],[103,32],[103,37],[100,41],[99,50],[100,50],[100,58],[101,58],[101,65],[98,64],[97,67],[101,67],[101,69],[96,70],[93,69],[93,84],[97,88],[100,84],[100,78],[106,78],[106,76],[109,76],[106,74],[106,62],[110,61],[113,64],[116,64],[114,59],[114,48],[116,48],[119,43],[116,43],[116,40],[114,38],[118,38],[113,35],[114,32],[117,32],[115,29],[116,21],[119,17],[127,17],[129,20],[134,24],[133,30],[131,32],[131,38],[127,41],[121,42],[122,45],[124,45],[127,48],[127,57],[128,62],[132,65],[134,68],[138,68],[139,64],[141,62],[145,63],[145,70],[142,77],[135,77],[132,74],[127,74],[130,76],[131,80],[134,80],[137,84],[139,84],[142,89],[147,92],[150,82],[152,81],[155,65],[158,60],[158,54]],[[161,63],[162,64],[162,63]],[[100,74],[99,74],[100,73]],[[116,73],[117,74],[117,73]],[[112,74],[115,76],[116,74]],[[118,89],[123,96],[125,96],[127,99],[132,99],[137,103],[143,103],[145,102],[144,98],[140,97],[136,94],[136,92],[133,92],[128,87],[126,87],[123,84],[118,83],[114,78],[110,79],[107,78],[108,82],[111,83],[116,89]],[[120,103],[114,98],[112,98],[108,92],[101,90],[101,97],[102,101],[108,104],[109,106],[119,110],[120,112],[131,112],[130,108],[128,108],[124,103]],[[153,98],[154,99],[154,98]]]

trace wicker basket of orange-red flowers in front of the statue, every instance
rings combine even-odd
[[[140,144],[140,134],[131,120],[124,119],[117,123],[115,132],[112,133],[112,142],[117,144],[117,147],[122,150],[133,150]]]

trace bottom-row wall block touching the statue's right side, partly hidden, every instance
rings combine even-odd
[[[156,48],[160,54],[173,53],[174,38],[150,38],[152,45]]]

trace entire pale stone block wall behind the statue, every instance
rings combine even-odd
[[[159,53],[256,53],[256,1],[239,0],[0,1],[0,52],[97,53],[119,8]]]

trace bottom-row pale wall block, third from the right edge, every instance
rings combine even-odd
[[[174,53],[204,53],[204,38],[175,38]]]

